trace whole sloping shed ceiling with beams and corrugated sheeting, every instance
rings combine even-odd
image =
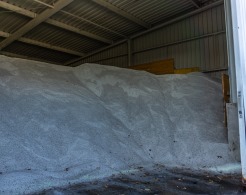
[[[216,0],[0,0],[0,54],[60,65]]]

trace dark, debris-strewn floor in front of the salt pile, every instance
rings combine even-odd
[[[246,194],[241,175],[215,175],[195,173],[191,170],[167,169],[157,166],[148,171],[141,167],[138,172],[112,176],[104,180],[82,183],[67,188],[43,191],[41,195],[78,194]]]

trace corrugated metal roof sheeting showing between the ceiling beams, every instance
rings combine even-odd
[[[1,1],[19,6],[20,8],[35,12],[37,14],[40,14],[46,9],[52,9],[42,3],[35,2],[34,0]],[[40,1],[53,5],[58,0]],[[145,23],[151,24],[152,26],[197,9],[191,0],[103,1],[108,2],[125,12],[128,12],[129,14],[144,21]],[[194,1],[197,2],[198,5],[203,6],[216,0]],[[8,33],[14,33],[31,20],[31,18],[21,15],[21,12],[18,14],[0,8],[0,13],[0,30]],[[120,14],[114,13],[91,0],[74,0],[51,18],[81,31],[87,31],[88,33],[97,35],[107,40],[112,40],[114,42],[145,30],[145,28],[141,25],[120,16]],[[90,53],[108,45],[101,42],[102,40],[98,41],[88,38],[69,30],[64,30],[64,28],[66,28],[66,26],[59,28],[51,24],[42,23],[24,35],[24,37],[81,53]],[[16,48],[14,46],[16,46]],[[44,49],[20,42],[14,42],[5,49],[9,52],[12,51],[19,53],[20,55],[53,60],[56,63],[60,63],[61,61],[64,62],[70,58],[76,57],[70,54],[63,55],[62,52],[52,51],[50,49]],[[57,55],[57,57],[55,55]],[[64,56],[64,59],[61,55]]]

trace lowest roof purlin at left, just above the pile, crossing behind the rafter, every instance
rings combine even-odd
[[[3,31],[0,31],[0,36],[4,37],[4,38],[8,38],[8,37],[11,36],[11,34],[3,32]],[[43,43],[43,42],[36,41],[36,40],[33,40],[33,39],[28,39],[28,38],[25,38],[25,37],[20,37],[18,39],[18,41],[21,41],[23,43],[28,43],[28,44],[31,44],[31,45],[37,45],[39,47],[44,47],[44,48],[47,48],[47,49],[61,51],[61,52],[72,54],[72,55],[76,55],[76,56],[81,56],[81,57],[85,56],[85,54],[81,53],[81,52],[73,51],[73,50],[66,49],[66,48],[59,47],[59,46],[54,46],[54,45],[51,45],[51,44],[48,44],[48,43]]]

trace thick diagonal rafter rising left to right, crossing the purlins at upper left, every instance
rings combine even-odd
[[[24,34],[26,34],[28,31],[32,30],[34,27],[38,26],[40,23],[47,20],[50,16],[70,4],[73,0],[60,0],[57,3],[54,4],[53,9],[47,9],[43,11],[41,14],[39,14],[36,18],[32,19],[30,22],[25,24],[23,27],[21,27],[19,30],[14,32],[10,37],[6,38],[0,43],[0,50],[7,47],[9,44],[14,42],[15,40],[22,37]]]

